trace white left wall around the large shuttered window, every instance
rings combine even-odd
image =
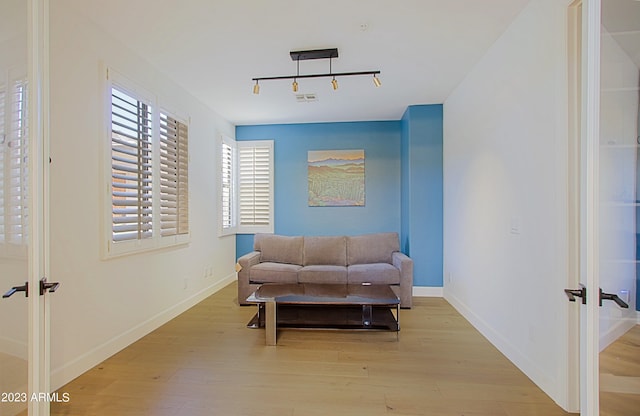
[[[217,135],[234,137],[234,126],[91,22],[78,19],[64,1],[51,3],[50,49],[49,280],[62,284],[50,297],[57,388],[235,278],[235,237],[217,237],[214,147]],[[191,118],[188,246],[102,260],[105,66]],[[204,276],[207,268],[213,276]]]

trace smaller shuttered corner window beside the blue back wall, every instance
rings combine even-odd
[[[221,234],[272,233],[273,141],[220,143]]]

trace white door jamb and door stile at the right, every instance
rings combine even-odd
[[[601,0],[569,5],[568,281],[587,301],[569,307],[568,408],[589,416],[600,411],[600,27]]]

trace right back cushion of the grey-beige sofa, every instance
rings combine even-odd
[[[347,237],[349,264],[392,263],[392,253],[400,251],[398,233],[377,233]]]

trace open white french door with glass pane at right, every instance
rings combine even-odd
[[[581,4],[580,409],[640,411],[640,2]]]

